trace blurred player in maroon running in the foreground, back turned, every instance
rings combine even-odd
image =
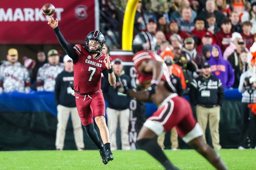
[[[137,144],[157,159],[165,169],[178,169],[164,155],[155,138],[164,132],[177,129],[184,142],[202,154],[217,169],[227,169],[220,156],[204,142],[203,131],[192,114],[188,101],[178,94],[170,81],[167,66],[153,51],[156,42],[148,32],[140,32],[132,41],[133,63],[137,70],[142,90],[134,92],[126,84],[117,83],[117,91],[128,94],[136,100],[154,102],[158,110],[143,124],[137,137]]]

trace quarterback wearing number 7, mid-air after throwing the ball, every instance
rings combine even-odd
[[[74,95],[76,107],[81,122],[88,136],[100,151],[100,157],[104,164],[113,160],[110,150],[109,133],[105,119],[105,102],[100,89],[101,73],[108,79],[110,85],[116,84],[116,77],[111,67],[112,59],[101,53],[105,43],[104,35],[100,31],[90,32],[85,39],[85,46],[76,44],[72,47],[60,33],[58,19],[52,17],[48,20],[66,53],[73,59],[74,64]],[[94,129],[93,116],[100,129],[100,141]]]

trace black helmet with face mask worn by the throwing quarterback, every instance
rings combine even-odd
[[[97,50],[90,49],[90,44],[89,44],[90,40],[95,40],[95,41],[100,42],[100,46],[98,46]],[[105,37],[100,31],[92,31],[85,38],[85,48],[87,49],[87,51],[90,54],[100,53],[102,51],[102,48],[103,48],[103,45],[105,44],[105,42],[106,42]]]

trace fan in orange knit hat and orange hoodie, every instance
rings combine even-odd
[[[164,61],[165,60],[171,60],[173,62],[174,55],[173,55],[170,48],[165,49],[165,51],[162,55],[162,58],[163,58]],[[183,90],[186,89],[186,80],[185,80],[185,77],[183,75],[182,69],[180,68],[179,65],[177,65],[175,63],[172,63],[172,66],[173,66],[172,74],[180,78],[182,89]]]

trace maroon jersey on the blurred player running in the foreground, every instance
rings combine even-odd
[[[138,71],[138,66],[140,65],[140,63],[144,60],[147,60],[147,59],[157,60],[159,62],[163,62],[163,59],[159,55],[157,55],[156,53],[149,52],[149,51],[146,51],[146,50],[137,52],[133,56],[132,61],[133,61],[135,69],[137,70],[138,80],[139,80],[140,84],[151,81],[152,76],[153,76],[152,73],[141,73],[141,72]],[[163,74],[162,80],[168,82],[168,84],[169,83],[171,84],[169,71],[168,71],[167,66],[164,62],[163,62],[163,72],[164,72],[164,74]]]

